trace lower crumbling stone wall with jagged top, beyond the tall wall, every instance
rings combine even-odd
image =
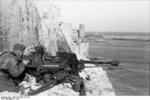
[[[85,26],[80,24],[78,29],[74,29],[70,23],[61,24],[61,32],[68,45],[68,49],[77,54],[78,59],[85,59],[89,56],[89,43],[85,41]],[[63,39],[58,39],[65,41]],[[66,49],[67,47],[65,47]],[[68,51],[68,50],[66,50]]]

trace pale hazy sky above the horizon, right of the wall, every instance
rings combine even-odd
[[[58,1],[61,19],[87,31],[150,32],[149,0]]]

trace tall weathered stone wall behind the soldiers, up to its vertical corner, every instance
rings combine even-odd
[[[40,43],[51,55],[56,55],[59,12],[60,8],[48,0],[0,0],[0,27],[3,27],[0,38],[7,38],[10,50],[15,43],[26,46]],[[0,41],[2,51],[6,41]]]

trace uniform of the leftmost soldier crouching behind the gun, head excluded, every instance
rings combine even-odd
[[[21,58],[13,52],[0,54],[0,92],[18,92],[19,88],[14,81],[25,70],[25,64]]]

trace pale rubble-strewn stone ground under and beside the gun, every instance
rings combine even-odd
[[[102,69],[102,67],[93,67],[93,68],[85,68],[82,72],[79,73],[81,77],[85,79],[85,89],[87,96],[112,96],[115,95],[113,87],[107,77],[106,72]],[[35,90],[40,87],[35,82],[35,78],[29,76],[29,82],[23,81],[20,86],[23,88],[31,87],[31,89]],[[1,92],[0,95],[26,95],[29,92],[29,89],[23,91],[24,94],[12,93],[12,92]],[[53,88],[46,90],[42,93],[39,93],[38,96],[79,96],[78,92],[75,92],[71,89],[71,85],[69,83],[59,84],[54,86]]]

